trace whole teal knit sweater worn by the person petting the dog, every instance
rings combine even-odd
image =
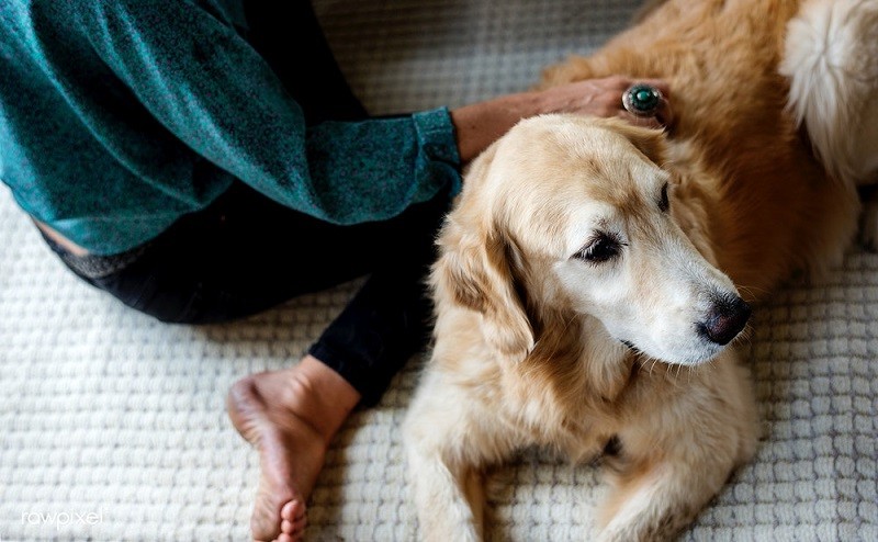
[[[4,0],[0,180],[99,255],[154,238],[234,179],[335,224],[458,192],[447,109],[306,128],[245,26],[234,0]]]

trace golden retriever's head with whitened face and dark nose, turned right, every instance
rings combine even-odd
[[[674,222],[663,136],[616,121],[520,123],[470,171],[435,281],[483,314],[485,339],[524,359],[547,312],[599,320],[669,363],[710,360],[750,307]]]

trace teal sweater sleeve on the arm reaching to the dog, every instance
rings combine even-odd
[[[443,108],[306,127],[271,68],[214,10],[179,0],[90,1],[77,15],[97,55],[161,125],[283,205],[350,224],[460,188]]]

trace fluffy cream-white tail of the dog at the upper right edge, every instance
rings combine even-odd
[[[809,0],[787,27],[780,72],[826,171],[878,181],[878,0]]]

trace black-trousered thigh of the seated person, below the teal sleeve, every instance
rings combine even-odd
[[[380,269],[423,272],[447,205],[440,193],[390,221],[337,226],[238,183],[134,263],[90,282],[162,321],[227,321]]]

